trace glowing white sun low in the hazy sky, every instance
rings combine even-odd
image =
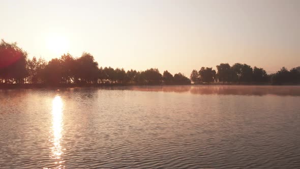
[[[47,38],[48,49],[53,54],[69,52],[69,41],[64,36],[51,35]]]

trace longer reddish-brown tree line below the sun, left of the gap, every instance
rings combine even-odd
[[[83,52],[74,58],[70,53],[46,62],[33,57],[16,43],[0,42],[0,83],[43,83],[59,84],[137,84],[137,85],[188,85],[191,80],[182,73],[174,76],[167,70],[161,74],[158,69],[145,71],[111,67],[99,68],[91,53]]]

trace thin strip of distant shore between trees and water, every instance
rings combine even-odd
[[[43,83],[39,84],[0,84],[0,89],[43,89],[43,88],[85,88],[85,87],[126,87],[126,86],[299,86],[298,83],[284,83],[284,84],[274,84],[274,83],[246,83],[246,82],[240,82],[240,83],[197,83],[197,84],[191,84],[191,85],[181,85],[181,84],[135,84],[135,83],[127,83],[127,84],[119,84],[119,83],[97,83],[97,84],[59,84],[59,85],[46,85]]]

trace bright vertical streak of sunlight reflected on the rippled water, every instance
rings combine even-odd
[[[55,164],[58,164],[56,168],[63,168],[62,159],[63,149],[61,146],[62,140],[62,130],[63,130],[63,101],[60,96],[54,97],[52,101],[52,132],[53,138],[51,142],[53,147],[51,148],[50,157],[55,160]]]

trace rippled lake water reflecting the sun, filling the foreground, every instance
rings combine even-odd
[[[300,168],[300,87],[0,90],[0,168]]]

